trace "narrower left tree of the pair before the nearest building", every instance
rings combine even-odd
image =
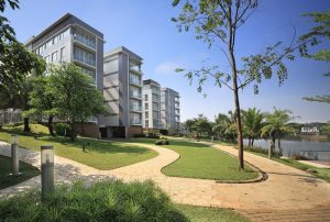
[[[54,106],[56,97],[54,95],[53,86],[48,76],[41,76],[34,79],[33,89],[29,93],[29,104],[31,106],[29,114],[36,115],[41,119],[43,116],[47,116],[50,135],[55,136],[53,130],[53,119],[57,114],[57,109]]]

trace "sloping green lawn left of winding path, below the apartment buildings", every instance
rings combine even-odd
[[[0,132],[0,140],[10,142],[9,132]],[[82,142],[88,142],[87,152],[82,152]],[[77,138],[72,142],[66,137],[20,135],[19,145],[33,151],[40,151],[42,145],[54,145],[55,155],[63,156],[97,169],[114,169],[142,162],[157,155],[156,152],[124,142],[101,142],[88,138]]]

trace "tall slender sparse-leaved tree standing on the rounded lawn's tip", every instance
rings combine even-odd
[[[180,0],[174,0],[173,7],[177,7],[179,2]],[[238,66],[237,31],[246,22],[257,4],[257,0],[186,0],[179,15],[172,19],[176,22],[179,32],[188,32],[194,27],[197,40],[204,41],[209,47],[217,43],[231,67],[231,73],[222,71],[218,66],[205,65],[199,70],[177,68],[176,71],[185,71],[190,82],[197,78],[198,91],[202,90],[201,86],[208,78],[212,78],[217,86],[226,86],[233,92],[240,169],[244,168],[244,158],[239,90],[254,82],[254,92],[257,93],[257,86],[263,78],[272,78],[273,73],[276,73],[282,85],[287,78],[287,68],[282,60],[294,59],[292,53],[298,47],[293,47],[293,41],[288,47],[279,52],[282,43],[278,42],[266,47],[264,54],[243,57],[241,68]]]

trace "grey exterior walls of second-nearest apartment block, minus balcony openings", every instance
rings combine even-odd
[[[103,66],[103,96],[107,101],[107,106],[112,114],[110,116],[102,118],[102,124],[105,127],[112,130],[118,130],[119,126],[125,127],[125,136],[132,136],[132,132],[139,132],[141,134],[142,126],[142,98],[136,98],[132,95],[132,87],[142,88],[142,84],[133,84],[130,81],[130,63],[134,60],[141,67],[142,58],[125,47],[114,48],[105,55],[105,66]],[[109,63],[110,62],[110,63]],[[142,78],[142,74],[139,73]],[[141,103],[141,108],[136,109],[134,103]],[[139,106],[138,106],[139,107]],[[141,111],[139,111],[141,110]],[[140,124],[134,123],[131,115],[140,115]],[[139,122],[139,121],[138,121]],[[133,129],[140,130],[130,130]],[[135,127],[136,126],[136,127]],[[120,130],[121,132],[121,130]],[[111,137],[113,132],[107,133],[108,137]]]

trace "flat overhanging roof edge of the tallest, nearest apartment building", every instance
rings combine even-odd
[[[51,24],[48,27],[46,27],[44,31],[42,31],[40,34],[37,34],[36,36],[32,36],[31,38],[29,38],[25,43],[25,45],[37,41],[38,38],[41,38],[42,36],[44,36],[45,34],[47,34],[48,32],[51,32],[54,27],[56,27],[58,24],[63,23],[64,21],[68,20],[73,18],[74,21],[76,21],[77,23],[82,24],[84,26],[88,27],[89,30],[91,30],[96,35],[98,35],[100,38],[103,38],[103,34],[96,30],[95,27],[90,26],[89,24],[82,22],[80,19],[78,19],[77,16],[73,15],[72,13],[66,13],[65,15],[63,15],[62,18],[59,18],[56,22],[54,22],[53,24]]]

